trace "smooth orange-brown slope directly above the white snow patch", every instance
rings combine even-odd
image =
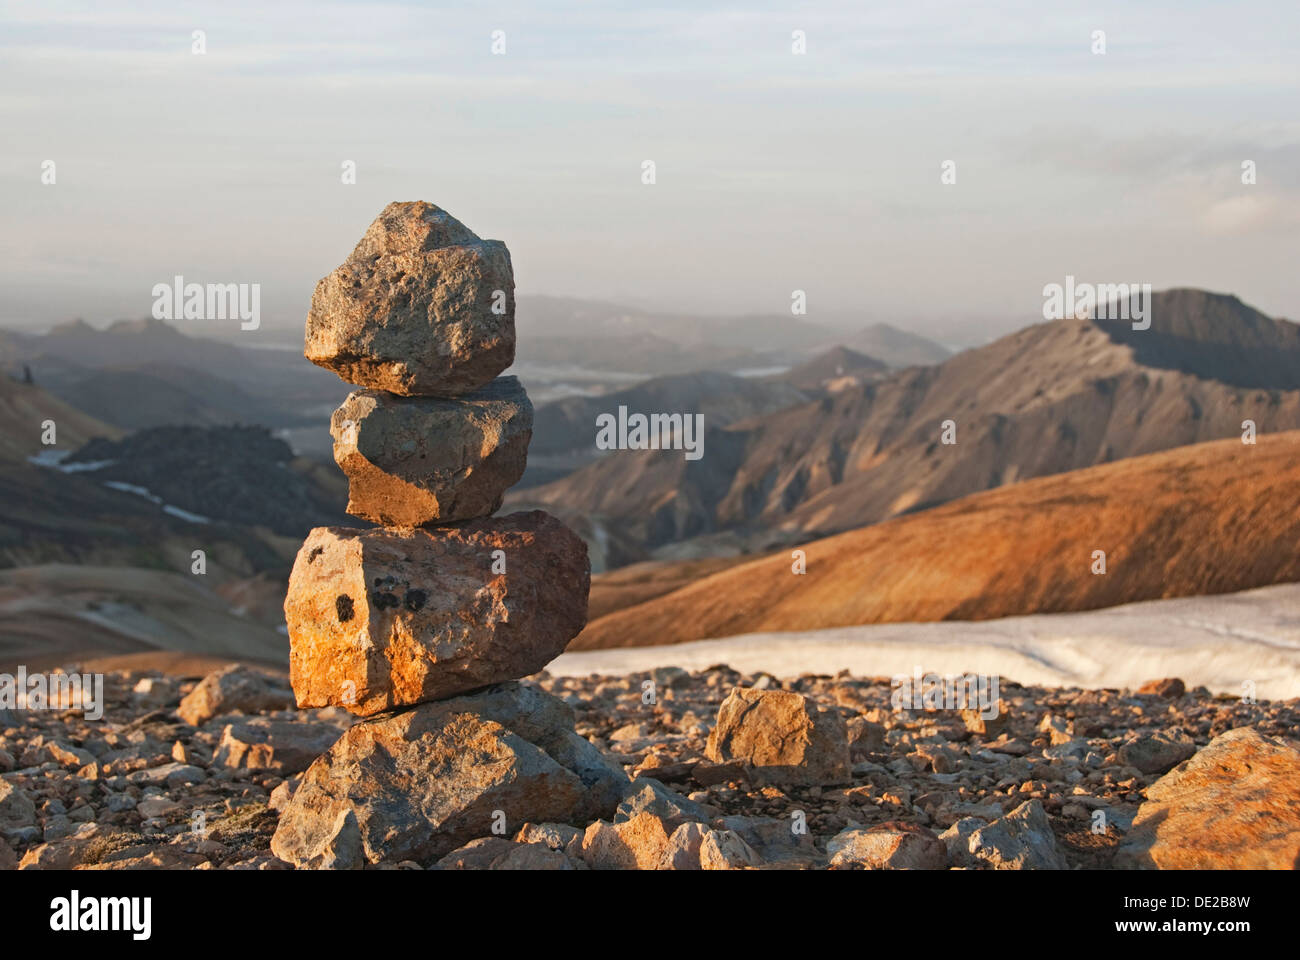
[[[816,540],[802,576],[789,552],[734,566],[594,619],[569,649],[1225,593],[1300,580],[1297,542],[1300,432],[1222,440]]]

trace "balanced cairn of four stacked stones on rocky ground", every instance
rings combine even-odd
[[[306,355],[361,388],[334,411],[347,511],[289,579],[300,708],[361,717],[303,774],[274,853],[303,868],[428,865],[524,822],[611,816],[628,780],[563,701],[519,678],[586,622],[585,544],[542,511],[493,518],[524,472],[533,408],[515,377],[500,241],[391,203],[320,281]]]

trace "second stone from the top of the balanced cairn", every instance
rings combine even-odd
[[[533,405],[515,377],[456,399],[358,390],[330,420],[347,513],[390,527],[489,516],[524,475]]]

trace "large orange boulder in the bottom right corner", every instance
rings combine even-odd
[[[1147,787],[1115,865],[1300,868],[1300,751],[1239,727]]]

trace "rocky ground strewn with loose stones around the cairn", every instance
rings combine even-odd
[[[1300,852],[1296,700],[1004,680],[985,721],[894,710],[887,678],[530,682],[627,771],[614,818],[485,825],[437,861],[369,869],[1295,866]],[[733,699],[710,743],[736,687],[807,700]],[[246,667],[202,683],[120,671],[105,701],[99,722],[0,710],[0,869],[291,869],[270,852],[280,810],[355,722],[296,710],[282,679]],[[755,718],[803,728],[798,769],[728,758],[784,749],[763,730],[744,741]]]

